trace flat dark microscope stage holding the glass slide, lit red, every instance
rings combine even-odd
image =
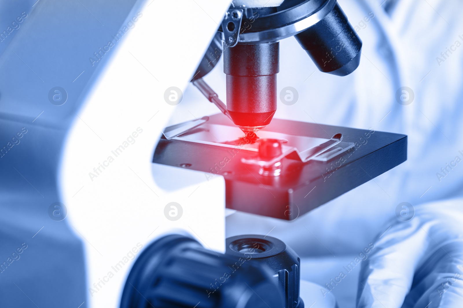
[[[257,136],[283,139],[283,152],[291,145],[299,154],[337,133],[343,139],[332,150],[305,163],[294,152],[282,158],[280,175],[264,176],[243,163],[257,156],[257,144],[238,144],[244,133],[217,114],[174,139],[162,137],[153,163],[203,171],[206,179],[222,175],[227,208],[294,220],[407,160],[406,135],[373,129],[274,119]]]

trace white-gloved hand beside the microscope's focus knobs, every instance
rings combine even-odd
[[[357,308],[463,307],[463,199],[397,213],[362,264]]]

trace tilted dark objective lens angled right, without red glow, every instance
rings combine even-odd
[[[345,76],[360,63],[362,41],[337,3],[325,18],[294,37],[322,72]]]

